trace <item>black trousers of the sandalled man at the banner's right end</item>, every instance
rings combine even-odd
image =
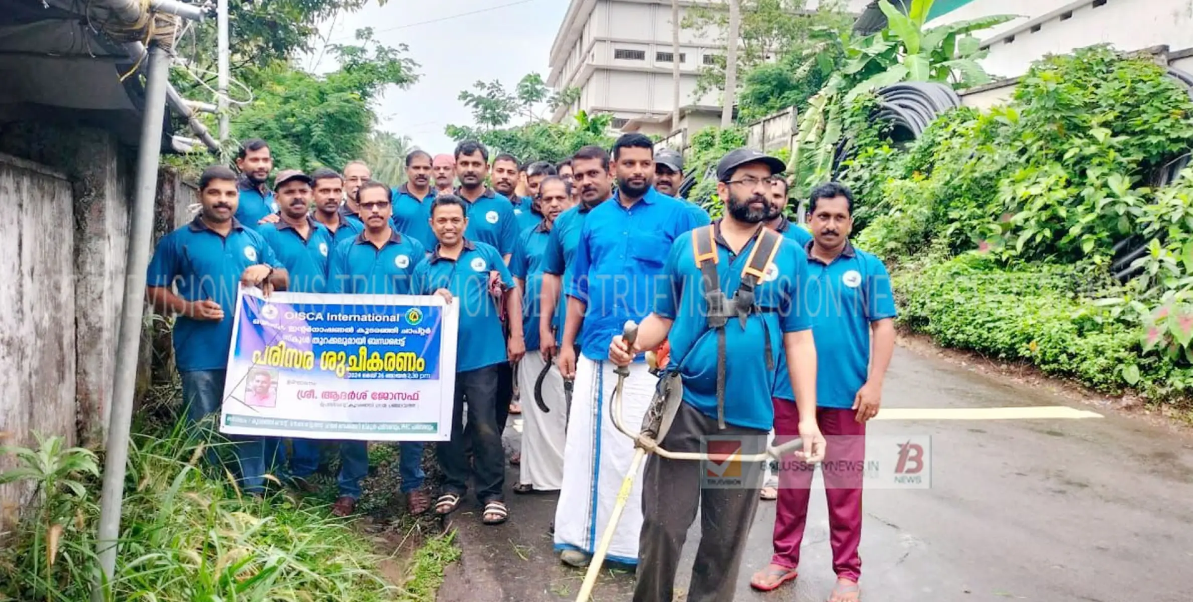
[[[506,365],[502,362],[502,365]],[[508,365],[507,365],[508,366]],[[501,424],[509,403],[497,399],[500,368],[486,366],[456,374],[451,441],[439,443],[435,453],[444,471],[444,492],[463,496],[468,477],[476,485],[482,504],[502,499],[506,484],[506,453],[501,447]],[[468,401],[468,429],[464,429],[464,402]],[[499,421],[500,418],[500,421]],[[471,448],[472,463],[468,461]]]

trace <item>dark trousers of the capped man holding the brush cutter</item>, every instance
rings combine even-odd
[[[740,437],[737,442],[743,454],[766,448],[767,432],[734,426],[718,430],[716,418],[686,403],[680,405],[662,443],[672,452],[701,452],[701,442],[710,435]],[[633,602],[672,601],[679,556],[697,509],[700,510],[700,546],[692,566],[687,600],[733,602],[762,480],[759,463],[738,463],[738,466],[740,482],[727,486],[706,480],[710,466],[704,461],[647,458],[642,474],[642,535]]]

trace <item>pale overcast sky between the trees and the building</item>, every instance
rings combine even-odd
[[[451,153],[447,124],[471,125],[472,116],[457,99],[477,80],[500,80],[512,88],[523,75],[549,73],[549,54],[568,0],[376,0],[359,12],[322,27],[332,42],[347,43],[360,27],[372,27],[390,46],[406,44],[420,63],[418,83],[391,87],[377,105],[378,129],[409,136],[432,154]],[[488,10],[492,8],[492,10]],[[468,14],[472,13],[472,14]],[[443,19],[443,20],[437,20]],[[426,23],[437,20],[435,23]],[[317,56],[319,52],[315,52]],[[316,72],[334,68],[322,58],[305,63]]]

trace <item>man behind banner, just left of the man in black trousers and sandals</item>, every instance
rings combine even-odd
[[[341,242],[328,261],[328,290],[346,294],[416,294],[412,287],[415,267],[426,257],[422,243],[403,236],[390,225],[394,213],[392,191],[385,184],[370,180],[357,190],[358,207],[364,217],[365,231],[351,241]],[[402,477],[402,492],[410,514],[422,514],[431,507],[431,497],[422,491],[420,442],[403,441],[400,446],[397,471]],[[365,441],[340,442],[340,497],[332,507],[339,516],[347,516],[360,498],[360,479],[369,474],[369,448]]]

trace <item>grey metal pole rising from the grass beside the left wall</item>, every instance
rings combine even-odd
[[[156,43],[149,46],[146,72],[146,105],[141,123],[141,147],[137,155],[137,187],[132,201],[128,262],[124,279],[124,306],[116,348],[116,380],[112,412],[107,424],[104,458],[104,489],[99,509],[100,579],[92,588],[92,600],[103,602],[116,571],[117,541],[120,535],[120,505],[124,502],[124,471],[129,460],[129,427],[132,422],[132,393],[137,379],[137,355],[141,345],[141,318],[144,312],[146,269],[153,238],[154,197],[157,191],[157,163],[161,154],[161,130],[166,122],[166,88],[169,85],[169,55]]]

